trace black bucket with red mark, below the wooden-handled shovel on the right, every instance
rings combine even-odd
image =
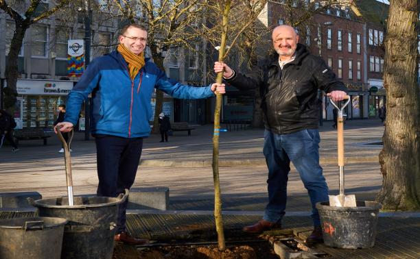
[[[356,201],[357,207],[334,207],[318,202],[325,245],[346,249],[375,245],[377,216],[382,207],[375,201]]]

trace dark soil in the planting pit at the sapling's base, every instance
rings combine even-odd
[[[231,245],[225,251],[219,251],[217,245],[174,245],[165,247],[136,248],[117,243],[113,259],[278,259],[267,242],[250,245]]]

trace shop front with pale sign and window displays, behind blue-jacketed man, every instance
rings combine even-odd
[[[58,106],[65,104],[72,88],[73,81],[18,79],[14,113],[16,129],[53,127]]]

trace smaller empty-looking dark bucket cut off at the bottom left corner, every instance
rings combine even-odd
[[[0,220],[0,258],[59,259],[65,223],[51,217]]]

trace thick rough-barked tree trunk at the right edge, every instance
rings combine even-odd
[[[420,209],[420,101],[417,0],[390,1],[385,40],[384,177],[377,200],[388,210]]]

